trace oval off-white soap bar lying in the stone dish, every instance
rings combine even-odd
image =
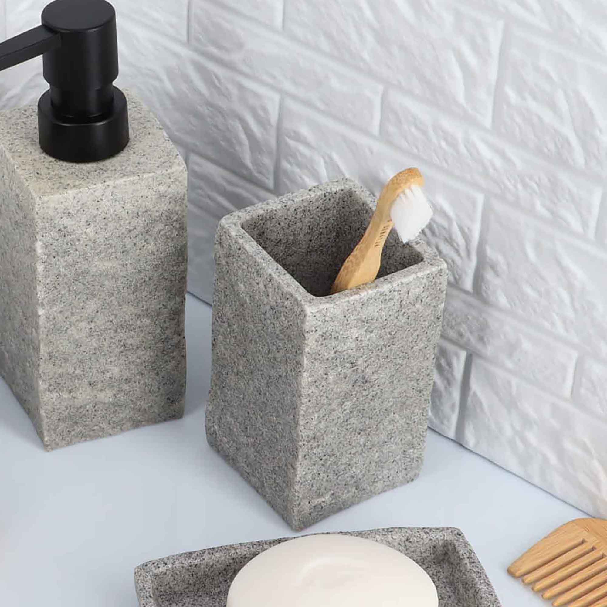
[[[249,561],[227,607],[438,607],[436,587],[409,557],[352,535],[306,535]]]

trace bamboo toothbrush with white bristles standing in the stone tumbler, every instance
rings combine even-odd
[[[421,186],[424,178],[418,169],[396,174],[384,186],[361,242],[342,265],[331,287],[331,295],[373,282],[381,265],[385,240],[395,226],[402,242],[409,242],[422,231],[432,217],[432,209]]]

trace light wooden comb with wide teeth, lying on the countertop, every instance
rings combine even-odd
[[[509,566],[554,607],[607,607],[607,520],[558,527]]]

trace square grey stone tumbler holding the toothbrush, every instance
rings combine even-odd
[[[375,198],[339,180],[222,219],[214,447],[299,531],[418,476],[446,265],[388,237],[378,279],[329,295]]]

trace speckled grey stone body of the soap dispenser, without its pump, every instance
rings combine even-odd
[[[0,114],[0,373],[46,449],[183,415],[186,168],[127,93],[131,141],[98,163]]]

